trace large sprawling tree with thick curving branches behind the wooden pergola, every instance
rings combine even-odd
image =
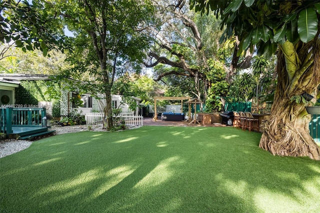
[[[188,85],[186,90],[192,92],[191,95],[203,100],[209,98],[212,106],[207,109],[217,110],[220,106],[215,96],[226,95],[225,86],[232,81],[237,68],[250,65],[251,53],[248,51],[245,58],[230,54],[231,49],[235,52],[238,49],[237,45],[234,46],[236,39],[221,45],[218,42],[221,35],[220,20],[214,15],[203,17],[194,13],[188,8],[186,0],[152,2],[157,8],[161,25],[150,29],[154,45],[150,48],[149,60],[145,65],[154,67],[155,80],[184,80],[183,84]],[[208,28],[207,25],[214,28]],[[222,61],[230,62],[223,65]],[[220,81],[220,64],[225,73],[226,83],[223,85],[217,82]]]

